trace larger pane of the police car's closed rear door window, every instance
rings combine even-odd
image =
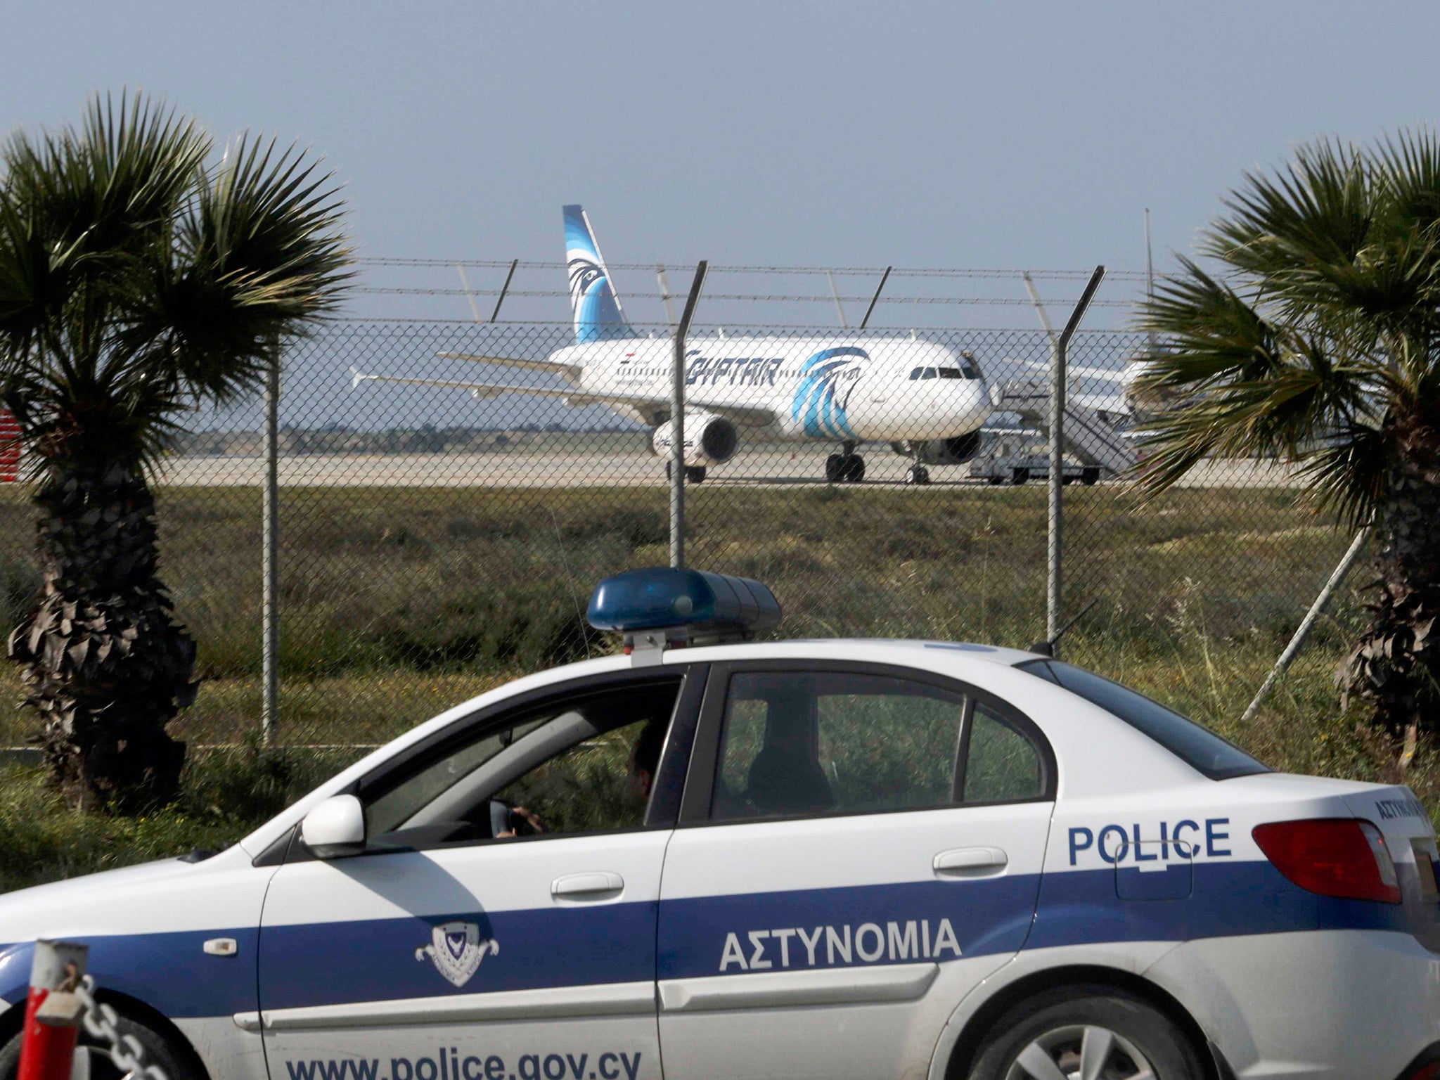
[[[711,821],[952,802],[965,696],[890,675],[730,677]]]

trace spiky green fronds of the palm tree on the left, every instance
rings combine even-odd
[[[40,445],[109,432],[154,461],[196,399],[256,386],[276,338],[336,310],[350,251],[331,177],[140,95],[0,145],[0,400]]]

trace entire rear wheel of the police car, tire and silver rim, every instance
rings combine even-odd
[[[1201,1080],[1185,1032],[1140,998],[1076,986],[1022,1002],[981,1048],[971,1080]]]

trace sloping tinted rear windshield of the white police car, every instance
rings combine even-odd
[[[1071,694],[1079,694],[1090,704],[1119,717],[1158,742],[1195,772],[1204,773],[1212,780],[1270,772],[1244,750],[1231,746],[1194,720],[1171,711],[1158,701],[1151,701],[1145,694],[1136,694],[1119,683],[1102,678],[1093,671],[1061,664],[1058,660],[1032,660],[1017,664],[1017,667],[1031,675],[1056,683]]]

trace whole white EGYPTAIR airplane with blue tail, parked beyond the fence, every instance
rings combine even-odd
[[[579,206],[564,207],[566,262],[575,344],[546,360],[441,353],[452,360],[547,372],[566,386],[508,386],[361,374],[361,382],[454,386],[477,399],[508,393],[606,405],[652,429],[651,449],[670,458],[670,338],[641,337],[625,318],[605,259]],[[690,482],[734,456],[740,441],[828,442],[825,480],[858,482],[857,449],[888,444],[912,459],[910,484],[930,481],[927,465],[960,465],[982,442],[989,389],[975,359],[932,341],[840,333],[809,337],[693,337],[685,350],[684,462]]]

